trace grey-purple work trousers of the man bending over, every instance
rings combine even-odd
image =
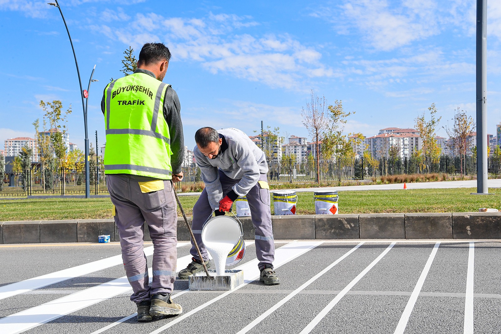
[[[259,179],[260,181],[266,182],[266,174],[261,174]],[[231,190],[231,187],[240,180],[231,179],[219,170],[219,181],[221,182],[224,197]],[[275,244],[273,241],[272,213],[270,209],[270,189],[263,189],[258,183],[250,189],[246,197],[250,208],[252,223],[254,228],[256,228],[256,255],[260,261],[258,267],[262,269],[265,264],[273,266],[273,260],[275,259]],[[191,223],[193,235],[198,243],[204,261],[207,261],[209,257],[202,243],[202,227],[203,223],[205,223],[212,212],[213,209],[210,207],[207,191],[204,189],[193,207],[193,221]],[[191,244],[190,253],[194,258],[198,259],[198,253],[193,245],[193,241],[191,241]]]

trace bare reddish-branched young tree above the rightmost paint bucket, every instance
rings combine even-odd
[[[310,136],[315,138],[316,146],[316,157],[317,157],[317,183],[320,183],[320,173],[319,173],[319,150],[318,143],[320,141],[320,136],[327,129],[328,120],[328,110],[327,102],[325,96],[319,98],[315,95],[315,92],[311,90],[310,92],[311,102],[306,104],[305,108],[302,109],[301,116],[303,116],[303,124],[310,133]]]

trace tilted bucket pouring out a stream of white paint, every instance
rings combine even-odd
[[[245,254],[241,224],[232,217],[210,218],[202,229],[202,242],[212,255],[216,275],[224,275],[224,267],[238,263]]]

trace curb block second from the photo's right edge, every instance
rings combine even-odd
[[[406,213],[406,239],[452,239],[452,213]]]

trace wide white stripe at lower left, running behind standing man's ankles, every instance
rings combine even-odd
[[[191,261],[191,255],[177,259],[178,267],[185,267]],[[149,269],[152,276],[152,270]],[[57,319],[63,315],[91,306],[131,289],[127,276],[80,290],[73,294],[55,299],[44,304],[14,313],[0,319],[0,333],[16,334]]]

